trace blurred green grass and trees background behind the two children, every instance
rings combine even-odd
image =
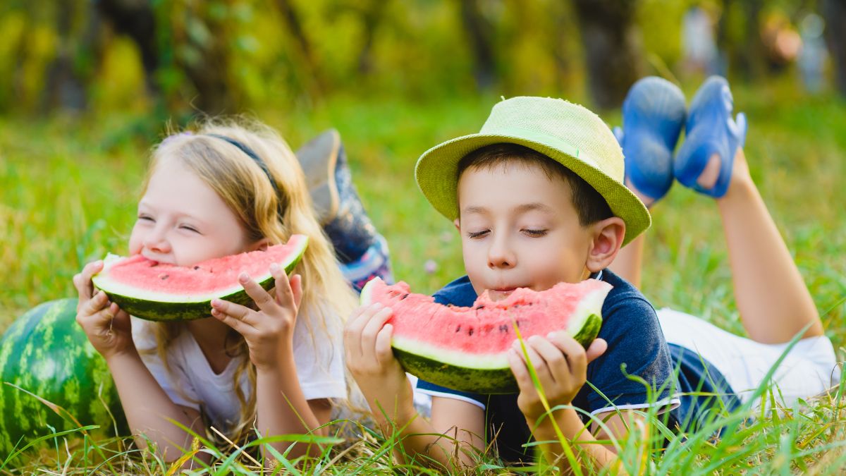
[[[634,80],[691,97],[727,75],[747,157],[836,344],[846,296],[846,3],[840,0],[7,0],[0,6],[0,329],[126,252],[147,151],[204,114],[292,147],[340,130],[398,279],[463,272],[416,158],[500,97],[565,97],[619,124]],[[674,186],[644,291],[741,332],[717,209]],[[750,236],[750,240],[754,240]]]

